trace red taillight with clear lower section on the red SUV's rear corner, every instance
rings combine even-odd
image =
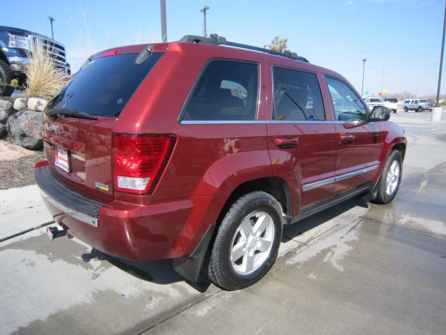
[[[171,136],[115,135],[113,145],[114,190],[148,193],[169,158]]]

